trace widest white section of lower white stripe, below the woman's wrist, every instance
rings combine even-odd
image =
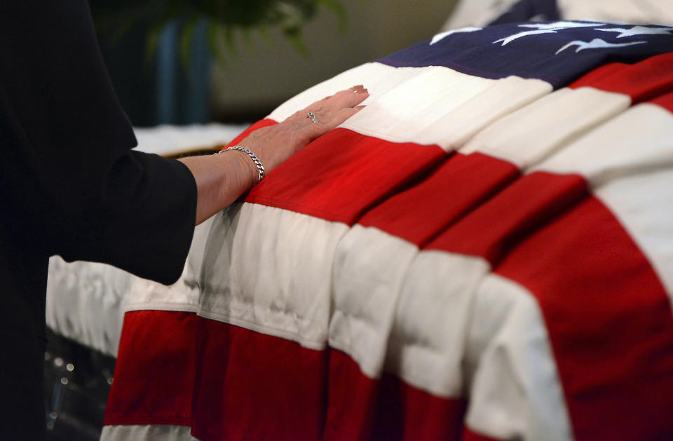
[[[212,222],[198,314],[325,348],[334,252],[347,230],[280,208],[231,205]]]

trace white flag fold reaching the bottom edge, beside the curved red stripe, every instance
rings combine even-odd
[[[500,440],[571,441],[573,435],[544,320],[533,295],[490,274],[469,319],[474,372],[467,425]]]

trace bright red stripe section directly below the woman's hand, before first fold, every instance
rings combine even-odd
[[[245,201],[353,224],[444,160],[437,146],[395,143],[337,128],[255,186]]]

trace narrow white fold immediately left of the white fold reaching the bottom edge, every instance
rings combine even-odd
[[[386,371],[444,398],[463,397],[463,360],[475,291],[488,273],[480,257],[422,251],[397,302]]]

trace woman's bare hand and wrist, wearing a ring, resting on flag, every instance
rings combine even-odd
[[[358,113],[358,105],[369,96],[367,89],[354,86],[316,101],[282,123],[250,133],[238,145],[250,149],[271,172],[306,144]],[[313,114],[313,118],[307,115]],[[198,191],[196,224],[228,207],[257,183],[257,167],[243,151],[179,159],[189,168]]]

